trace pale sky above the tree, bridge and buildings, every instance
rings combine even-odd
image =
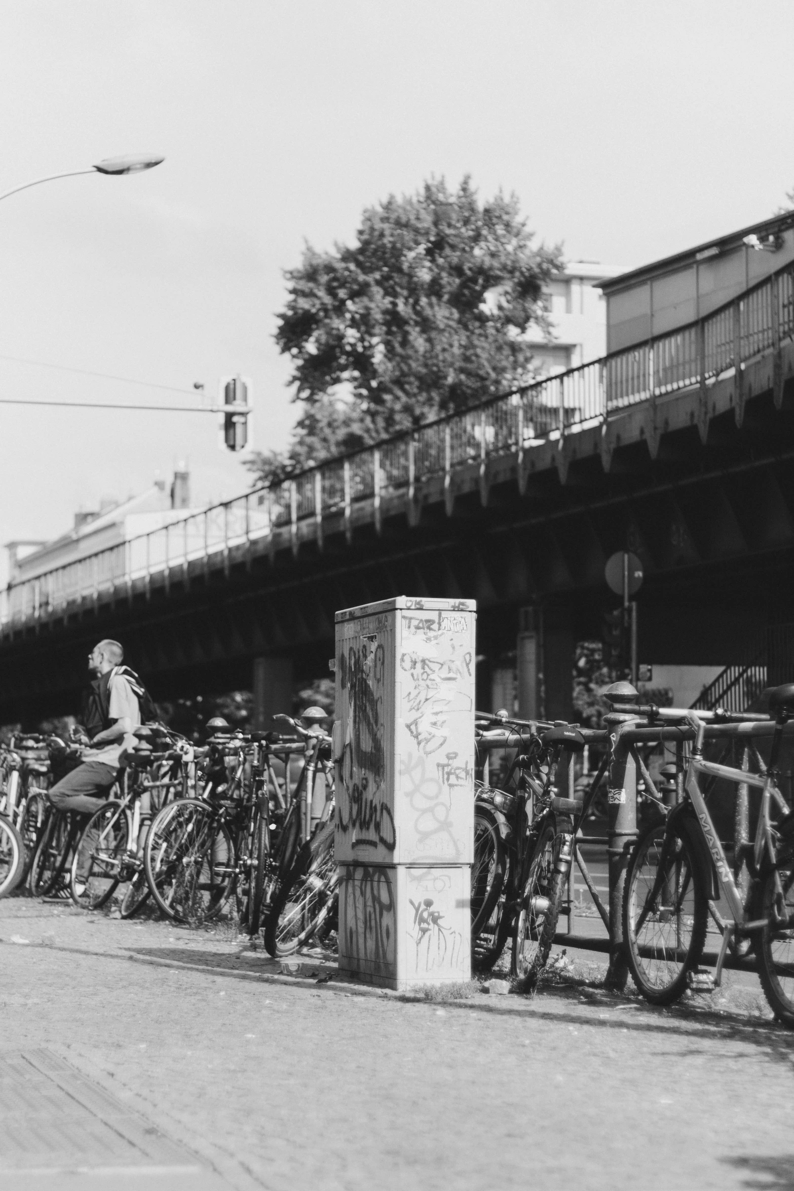
[[[792,0],[0,0],[0,193],[165,157],[0,204],[0,398],[194,404],[240,373],[255,445],[282,447],[274,331],[305,242],[350,242],[431,175],[515,192],[574,260],[755,223],[794,188],[793,35]],[[194,503],[250,484],[212,414],[0,405],[0,545],[182,460]]]

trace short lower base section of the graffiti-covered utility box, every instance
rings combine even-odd
[[[471,977],[471,867],[342,865],[339,971],[387,989]]]

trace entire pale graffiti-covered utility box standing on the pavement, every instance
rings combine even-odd
[[[468,980],[476,604],[402,596],[336,622],[339,969]]]

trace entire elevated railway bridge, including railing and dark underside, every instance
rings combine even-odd
[[[789,263],[670,333],[12,584],[0,722],[74,707],[100,636],[156,697],[254,682],[267,717],[327,673],[337,609],[401,593],[475,598],[479,699],[518,650],[523,710],[562,716],[620,549],[645,569],[642,661],[740,667],[794,618],[793,461]]]

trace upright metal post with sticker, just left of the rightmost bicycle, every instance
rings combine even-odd
[[[623,939],[623,892],[626,866],[637,840],[637,765],[631,750],[620,743],[620,725],[637,717],[611,712],[604,717],[609,734],[608,844],[609,861],[609,969],[605,987],[619,992],[629,978]]]

